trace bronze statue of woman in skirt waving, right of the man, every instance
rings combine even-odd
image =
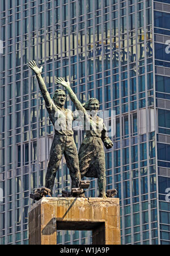
[[[69,93],[71,101],[81,112],[82,119],[86,119],[86,137],[79,148],[79,170],[81,177],[96,177],[99,186],[99,197],[106,197],[106,176],[105,176],[105,154],[103,143],[106,148],[111,148],[113,143],[107,135],[107,129],[103,119],[97,116],[99,101],[90,98],[86,104],[81,104],[70,87],[70,82],[62,78],[56,79],[58,84],[63,85]],[[88,113],[90,112],[90,114]],[[103,143],[102,143],[103,142]]]

